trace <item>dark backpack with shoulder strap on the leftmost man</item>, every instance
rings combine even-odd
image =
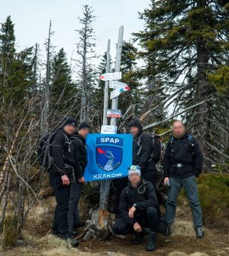
[[[53,136],[58,134],[58,133],[63,133],[62,131],[56,131],[56,133],[47,133],[44,136],[41,136],[38,142],[38,149],[37,149],[37,159],[41,167],[44,168],[44,170],[49,171],[53,159],[50,156],[50,141],[52,140]],[[69,143],[69,138],[64,134],[65,137],[65,143]]]

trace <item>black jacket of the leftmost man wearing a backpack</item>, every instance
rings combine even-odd
[[[63,129],[54,133],[50,141],[50,156],[53,159],[52,169],[61,176],[67,173],[66,165],[74,166],[73,146],[70,143],[70,136]]]

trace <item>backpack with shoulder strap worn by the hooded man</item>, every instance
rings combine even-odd
[[[143,134],[143,133],[141,133],[141,134]],[[137,156],[140,155],[140,151],[141,151],[140,136],[139,136],[139,140],[138,140],[138,145],[140,146],[140,148],[138,149]],[[160,138],[160,136],[158,136],[156,134],[150,135],[150,137],[152,139],[152,146],[153,146],[152,153],[150,154],[150,157],[151,157],[150,160],[153,160],[154,163],[157,163],[160,161],[161,152],[163,149],[162,139]]]

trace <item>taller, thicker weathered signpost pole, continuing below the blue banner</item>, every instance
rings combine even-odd
[[[120,66],[121,66],[121,48],[122,48],[122,41],[123,41],[123,31],[124,31],[124,27],[121,26],[119,28],[119,33],[118,33],[118,46],[117,46],[115,70],[114,70],[115,72],[120,71]],[[118,107],[118,97],[112,99],[111,109],[116,110],[117,107]],[[107,119],[107,117],[105,119]],[[114,126],[116,125],[116,118],[111,118],[111,125],[114,125]],[[99,208],[102,208],[103,210],[108,210],[110,185],[111,185],[111,180],[103,180],[101,182]]]

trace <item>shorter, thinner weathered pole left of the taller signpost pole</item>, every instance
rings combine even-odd
[[[106,53],[106,56],[107,56],[106,73],[110,72],[110,64],[111,64],[110,45],[111,45],[111,39],[108,39],[108,48]],[[108,100],[109,100],[109,81],[105,81],[103,120],[102,120],[103,125],[108,124],[108,117],[107,117]]]

